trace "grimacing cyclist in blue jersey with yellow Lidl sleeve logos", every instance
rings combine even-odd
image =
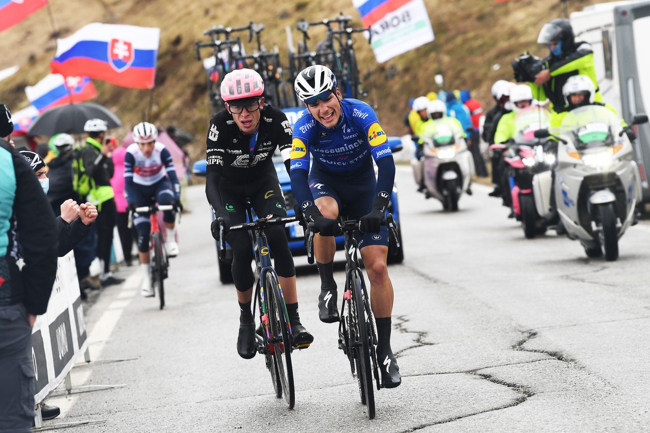
[[[382,384],[396,387],[401,377],[391,349],[393,285],[386,266],[388,230],[381,225],[395,181],[391,148],[374,111],[357,99],[343,99],[336,77],[326,66],[305,68],[296,77],[294,89],[309,114],[294,125],[291,188],[305,219],[314,223],[318,233],[314,239],[321,289],[318,315],[323,322],[339,321],[333,236],[341,233],[336,218],[344,211],[347,217],[359,220],[360,231],[355,237],[370,280]],[[379,169],[377,178],[372,161]]]

